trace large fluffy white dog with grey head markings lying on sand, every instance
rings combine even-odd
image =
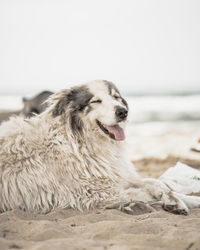
[[[93,81],[54,94],[40,115],[4,122],[0,211],[107,206],[134,213],[136,201],[147,207],[160,201],[164,209],[183,214],[198,207],[199,197],[137,175],[125,154],[127,115],[115,85]]]

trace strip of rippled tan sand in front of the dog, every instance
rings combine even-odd
[[[200,209],[189,216],[164,211],[131,216],[117,210],[47,215],[0,215],[1,249],[191,249],[200,248]]]

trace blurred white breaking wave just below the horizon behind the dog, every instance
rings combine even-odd
[[[128,96],[131,124],[166,121],[200,121],[200,95]],[[21,110],[22,96],[0,96],[0,111]]]

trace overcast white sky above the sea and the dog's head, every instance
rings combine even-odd
[[[200,90],[200,1],[0,1],[0,94],[92,79]]]

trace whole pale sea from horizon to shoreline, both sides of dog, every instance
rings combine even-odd
[[[200,129],[200,95],[127,96],[129,131],[143,134]],[[0,95],[0,112],[21,110],[22,96]]]

